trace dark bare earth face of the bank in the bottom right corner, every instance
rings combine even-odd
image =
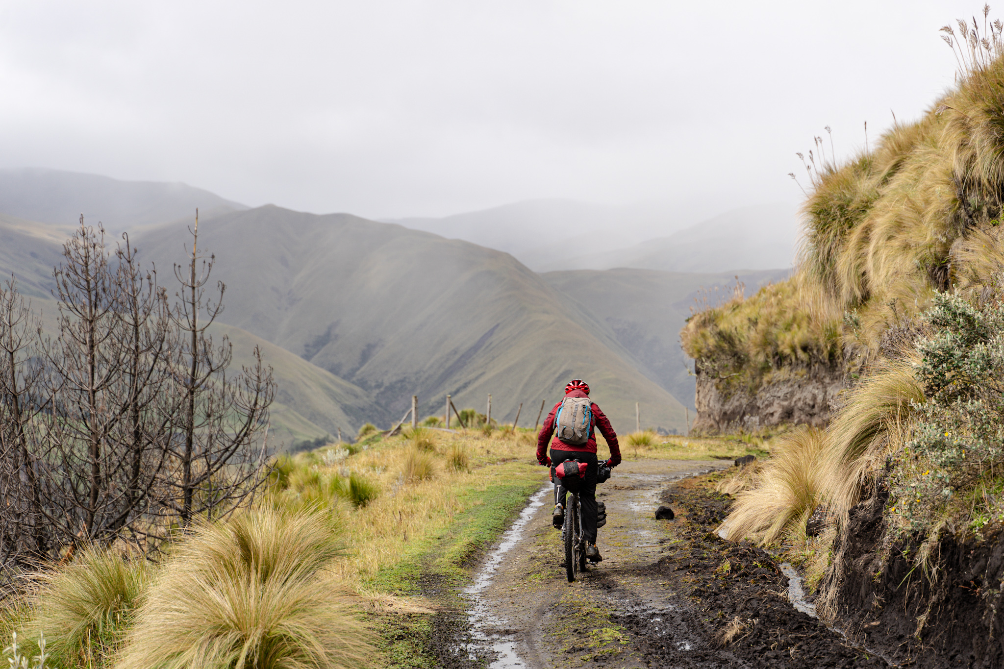
[[[835,588],[840,624],[907,666],[1004,667],[1004,529],[944,537],[925,573],[913,560],[919,542],[886,537],[888,497],[880,482],[833,545],[823,587]]]

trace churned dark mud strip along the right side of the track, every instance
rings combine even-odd
[[[717,662],[708,658],[707,664],[719,662],[771,668],[888,666],[882,658],[849,646],[819,620],[795,610],[786,596],[788,579],[769,554],[715,534],[731,501],[712,487],[720,475],[688,478],[664,492],[663,500],[686,518],[678,516],[675,522],[680,527],[671,552],[651,568],[671,580],[690,604],[677,624],[691,627],[709,648],[722,649]],[[645,625],[640,619],[640,632]],[[730,627],[738,631],[725,643]],[[678,661],[658,641],[645,651],[657,666]]]

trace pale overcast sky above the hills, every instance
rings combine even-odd
[[[796,202],[913,119],[975,2],[0,3],[0,166],[370,218]],[[1004,9],[1004,8],[1002,8]],[[992,12],[991,17],[1004,11]]]

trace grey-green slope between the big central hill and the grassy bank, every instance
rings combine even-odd
[[[788,274],[788,270],[748,272],[740,274],[739,281],[750,294]],[[541,278],[578,300],[583,310],[609,328],[640,370],[693,411],[694,377],[687,372],[689,359],[680,348],[680,330],[702,291],[711,291],[712,301],[716,295],[732,295],[736,284],[732,274],[615,269],[548,272]]]

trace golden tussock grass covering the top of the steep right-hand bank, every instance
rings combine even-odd
[[[873,361],[884,333],[936,293],[979,291],[1004,267],[1004,55],[999,34],[980,42],[985,26],[967,30],[956,85],[922,118],[840,164],[810,157],[793,277],[689,320],[684,348],[720,389],[798,361],[842,362],[846,344]]]

